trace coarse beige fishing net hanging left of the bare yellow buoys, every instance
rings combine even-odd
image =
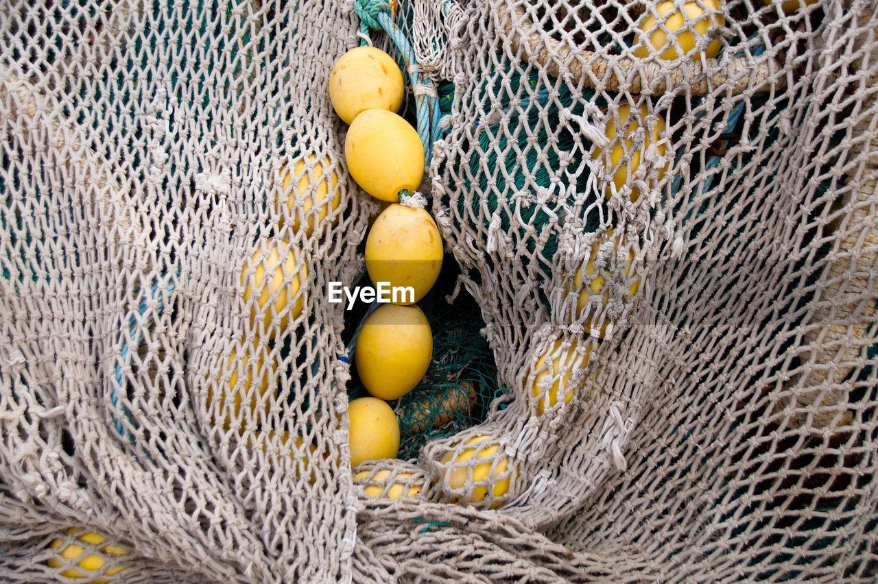
[[[350,579],[326,290],[368,213],[327,80],[355,32],[306,2],[0,11],[0,580],[65,575],[82,526],[132,550],[89,576]]]

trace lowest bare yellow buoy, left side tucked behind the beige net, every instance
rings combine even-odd
[[[399,453],[399,422],[384,400],[361,397],[348,404],[350,466],[365,460],[395,459]]]

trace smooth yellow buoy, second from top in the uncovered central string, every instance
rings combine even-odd
[[[424,177],[424,146],[418,132],[387,110],[365,110],[350,125],[344,158],[356,184],[382,201],[399,201]]]

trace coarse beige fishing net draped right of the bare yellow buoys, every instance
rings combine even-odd
[[[515,401],[422,456],[496,511],[372,511],[403,573],[874,578],[878,9],[668,4],[470,6],[433,210]]]

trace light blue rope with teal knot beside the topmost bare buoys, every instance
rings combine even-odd
[[[396,46],[402,60],[406,63],[409,81],[414,89],[414,105],[418,116],[418,136],[424,146],[424,166],[428,167],[433,160],[433,143],[439,139],[439,98],[435,93],[433,82],[427,75],[418,70],[418,62],[414,57],[414,49],[406,39],[406,35],[393,22],[390,3],[387,0],[356,0],[354,11],[360,17],[360,30],[368,35],[369,30],[384,30]],[[365,41],[363,41],[365,43]],[[423,93],[419,87],[427,88]]]

